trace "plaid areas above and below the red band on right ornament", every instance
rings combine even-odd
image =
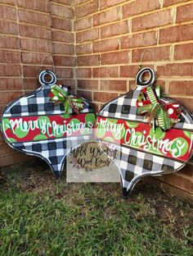
[[[146,122],[145,117],[137,115],[137,98],[144,87],[137,86],[132,92],[123,94],[115,98],[102,107],[98,116],[112,117],[127,121]],[[162,98],[164,103],[171,102],[169,98]],[[191,115],[183,110],[180,121],[174,126],[177,129],[193,130],[193,119]],[[121,152],[120,159],[116,160],[119,167],[121,180],[123,182],[123,195],[128,197],[134,185],[142,176],[162,175],[177,171],[184,166],[184,162],[160,157],[151,153],[144,153],[126,146],[119,147]]]

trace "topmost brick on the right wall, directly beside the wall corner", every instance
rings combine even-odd
[[[78,7],[75,8],[76,17],[87,16],[88,14],[94,13],[97,11],[97,0],[93,0],[91,2],[85,2]]]

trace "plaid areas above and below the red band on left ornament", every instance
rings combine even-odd
[[[50,102],[52,86],[43,85],[34,93],[27,94],[13,103],[7,105],[2,117],[43,117],[45,115],[62,115],[65,112],[63,104],[54,105]],[[88,100],[84,99],[84,107],[81,113],[94,112]],[[11,143],[11,147],[23,153],[36,155],[43,158],[52,168],[56,176],[61,176],[66,154],[70,147],[74,148],[83,144],[91,135],[80,135],[62,139],[47,139],[22,143]]]

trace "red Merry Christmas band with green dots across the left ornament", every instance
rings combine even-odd
[[[60,115],[42,117],[2,118],[2,130],[9,142],[56,139],[92,133],[93,113],[64,118]]]

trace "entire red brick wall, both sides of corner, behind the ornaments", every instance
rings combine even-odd
[[[0,110],[38,88],[47,53],[54,57],[59,79],[97,110],[135,87],[141,53],[149,48],[164,95],[193,112],[192,1],[0,0],[0,48]],[[143,62],[154,64],[150,53]],[[25,158],[0,138],[0,167]],[[191,165],[161,179],[193,194]]]

